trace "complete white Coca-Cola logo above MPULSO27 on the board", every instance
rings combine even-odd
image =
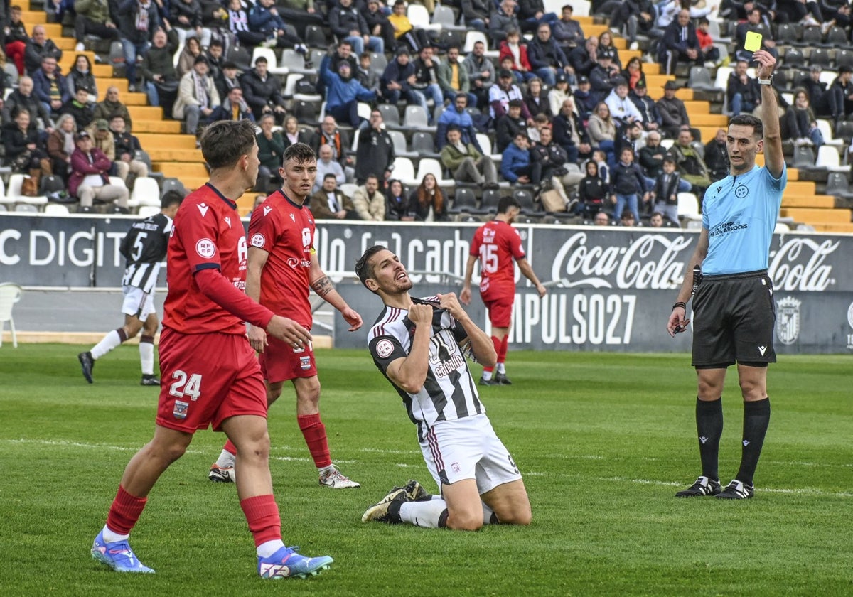
[[[567,280],[568,287],[668,290],[682,283],[688,259],[679,255],[693,243],[693,236],[641,235],[628,246],[587,242],[587,233],[578,232],[560,246],[552,280]]]

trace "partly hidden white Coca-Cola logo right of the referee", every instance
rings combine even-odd
[[[816,293],[835,283],[833,266],[825,263],[840,241],[817,242],[798,236],[770,252],[769,275],[779,291]]]

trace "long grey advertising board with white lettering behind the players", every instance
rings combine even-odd
[[[132,217],[0,215],[0,281],[39,287],[118,287],[124,263],[119,243]],[[244,222],[244,225],[246,223]],[[381,304],[353,279],[357,258],[380,244],[412,275],[416,295],[461,290],[473,223],[320,223],[323,270],[358,310],[365,326]],[[670,339],[666,319],[698,232],[579,226],[516,226],[548,295],[539,299],[515,270],[511,343],[557,351],[688,351],[691,334]],[[769,275],[776,299],[780,353],[853,351],[853,236],[775,235]],[[479,282],[475,269],[473,286]],[[160,286],[165,286],[162,277]],[[474,291],[470,312],[487,326]],[[335,317],[335,345],[364,347],[366,330],[348,333]]]

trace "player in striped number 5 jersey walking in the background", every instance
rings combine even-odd
[[[181,206],[183,194],[169,191],[160,200],[160,213],[134,222],[121,245],[119,252],[127,260],[125,275],[121,280],[125,302],[121,312],[125,314],[125,325],[107,333],[92,346],[90,351],[81,352],[77,358],[86,381],[92,383],[92,368],[95,362],[113,348],[135,338],[139,339],[139,361],[142,364],[142,385],[160,385],[154,375],[154,333],[160,320],[154,308],[154,287],[160,263],[165,259],[166,246],[171,234],[171,223]]]

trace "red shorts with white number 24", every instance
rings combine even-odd
[[[266,388],[246,336],[233,333],[160,333],[160,402],[157,424],[193,433],[221,431],[241,414],[266,418]]]

